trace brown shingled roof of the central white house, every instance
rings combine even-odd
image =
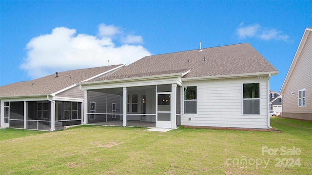
[[[90,80],[107,81],[186,73],[183,78],[278,71],[249,43],[145,56],[113,74]],[[205,61],[204,61],[205,60]]]

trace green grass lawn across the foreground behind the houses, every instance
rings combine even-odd
[[[160,133],[106,126],[58,132],[0,129],[0,174],[311,175],[312,122],[272,117],[271,125],[281,132],[180,128]],[[276,155],[269,155],[274,149]]]

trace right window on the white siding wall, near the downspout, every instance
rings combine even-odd
[[[243,84],[243,115],[260,115],[260,84]]]

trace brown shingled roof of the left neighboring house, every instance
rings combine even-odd
[[[31,81],[17,82],[0,87],[1,97],[50,95],[77,83],[96,78],[125,65],[112,65],[89,69],[69,70],[51,74]]]

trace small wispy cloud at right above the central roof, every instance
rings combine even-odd
[[[289,36],[283,34],[282,31],[276,29],[263,28],[259,24],[255,23],[253,25],[244,26],[244,23],[240,23],[239,27],[236,29],[236,34],[240,39],[245,39],[246,37],[256,37],[262,40],[282,40],[288,41]]]

